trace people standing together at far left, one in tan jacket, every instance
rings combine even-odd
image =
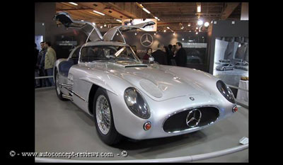
[[[37,50],[35,43],[35,76],[52,76],[56,52],[49,41],[40,42],[40,48],[41,50]],[[54,86],[53,78],[35,80],[35,88],[45,86]]]

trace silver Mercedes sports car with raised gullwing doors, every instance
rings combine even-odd
[[[153,22],[116,26],[102,36],[95,25],[68,13],[54,18],[91,40],[54,64],[57,96],[93,116],[106,144],[195,132],[238,110],[231,89],[211,74],[142,62],[125,40],[113,41],[117,33]]]

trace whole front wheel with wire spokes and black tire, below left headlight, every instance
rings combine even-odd
[[[108,94],[101,88],[96,91],[93,99],[93,118],[96,123],[98,136],[105,144],[117,144],[122,140],[122,135],[115,129]]]

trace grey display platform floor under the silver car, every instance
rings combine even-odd
[[[45,160],[124,161],[186,157],[241,146],[239,140],[242,137],[248,137],[248,110],[239,107],[230,118],[204,130],[152,140],[124,140],[110,147],[99,139],[91,116],[71,101],[60,101],[54,88],[35,89],[35,152],[112,154],[112,157],[42,158]],[[127,152],[127,157],[122,157],[122,151]],[[248,162],[248,149],[197,162]]]

